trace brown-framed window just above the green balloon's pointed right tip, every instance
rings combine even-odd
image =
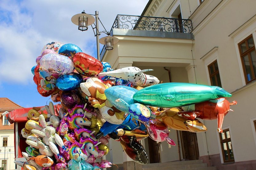
[[[212,62],[210,65],[208,65],[208,70],[209,70],[211,85],[221,87],[221,81],[220,81],[220,76],[219,76],[219,68],[218,68],[217,60]]]

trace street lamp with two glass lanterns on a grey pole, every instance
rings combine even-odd
[[[95,19],[94,19],[93,16],[95,16]],[[97,59],[98,60],[100,60],[99,43],[104,44],[106,50],[113,50],[113,45],[118,43],[118,41],[119,41],[118,38],[110,36],[110,33],[106,30],[106,28],[104,27],[104,25],[102,24],[102,22],[99,19],[99,12],[98,11],[95,11],[95,15],[93,15],[93,14],[87,14],[83,10],[82,13],[74,15],[71,18],[71,21],[75,25],[78,25],[78,29],[81,30],[81,31],[86,31],[88,29],[89,25],[91,25],[91,27],[92,27],[92,24],[95,26],[95,27],[92,27],[92,29],[93,29],[93,32],[94,32],[94,36],[96,36]],[[94,21],[96,21],[95,24],[94,24]],[[105,29],[104,31],[99,32],[99,21],[100,21],[101,25],[103,26],[103,28]],[[96,33],[95,33],[94,29],[96,29]],[[108,36],[103,37],[99,40],[99,35],[101,33],[105,33]]]

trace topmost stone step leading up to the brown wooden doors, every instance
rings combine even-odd
[[[184,164],[200,164],[200,163],[203,163],[203,160],[199,159],[199,160],[192,160],[192,161],[172,161],[172,162],[145,164],[145,165],[142,165],[142,168],[162,167],[162,166],[172,166],[172,165],[184,165]]]

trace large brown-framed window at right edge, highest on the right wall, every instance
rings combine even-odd
[[[246,84],[256,79],[256,51],[252,35],[238,44]]]

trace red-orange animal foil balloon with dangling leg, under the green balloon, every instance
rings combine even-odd
[[[189,106],[184,106],[184,111],[179,112],[186,119],[195,120],[196,118],[205,120],[218,119],[218,132],[222,133],[222,123],[224,116],[230,111],[230,105],[237,104],[236,101],[229,103],[227,99],[220,98],[217,100],[209,100],[202,103],[197,103]],[[192,121],[188,122],[191,123]]]

